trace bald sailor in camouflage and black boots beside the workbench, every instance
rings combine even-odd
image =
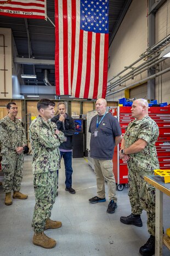
[[[155,188],[144,181],[144,176],[152,175],[154,169],[160,168],[155,147],[159,130],[156,122],[148,116],[148,101],[135,100],[131,111],[135,120],[129,123],[122,139],[120,158],[128,165],[128,195],[132,214],[122,216],[120,221],[141,227],[140,214],[146,211],[150,238],[139,252],[151,256],[155,254]]]

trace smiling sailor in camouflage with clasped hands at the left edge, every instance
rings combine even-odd
[[[2,155],[2,172],[4,173],[3,190],[5,205],[12,204],[12,195],[15,199],[27,199],[27,195],[19,192],[22,181],[24,162],[24,147],[26,136],[24,124],[16,118],[18,107],[15,102],[7,104],[8,116],[0,121],[0,141]]]

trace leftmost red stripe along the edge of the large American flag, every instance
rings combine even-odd
[[[55,0],[55,17],[58,17],[58,0]],[[55,90],[56,95],[60,95],[60,77],[59,77],[59,20],[55,18]]]

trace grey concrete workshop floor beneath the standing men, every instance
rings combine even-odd
[[[149,238],[146,227],[146,213],[141,215],[143,227],[123,225],[120,216],[131,214],[127,188],[117,191],[118,207],[115,214],[107,214],[106,202],[88,203],[96,195],[96,180],[87,160],[73,159],[73,185],[76,194],[65,191],[65,172],[63,160],[59,172],[59,189],[53,210],[52,219],[60,220],[63,226],[58,230],[47,230],[49,237],[56,239],[53,249],[43,249],[32,244],[33,231],[31,220],[35,196],[33,193],[31,156],[25,156],[24,178],[21,192],[29,194],[27,200],[13,199],[10,206],[4,205],[4,193],[0,187],[0,255],[1,256],[138,256],[139,247]],[[2,181],[3,177],[0,177]],[[170,204],[165,195],[163,199],[164,228],[170,227]],[[170,252],[163,247],[163,256]]]

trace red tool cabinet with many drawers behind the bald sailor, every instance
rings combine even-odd
[[[131,115],[131,107],[112,107],[110,112],[116,116],[120,122],[122,134],[124,134],[128,123],[134,120]],[[149,107],[149,116],[154,119],[159,127],[159,137],[156,142],[156,150],[161,169],[170,168],[170,107]],[[120,145],[115,147],[114,151],[114,175],[117,183],[117,189],[123,190],[124,185],[128,183],[127,162],[119,159],[118,151]]]

